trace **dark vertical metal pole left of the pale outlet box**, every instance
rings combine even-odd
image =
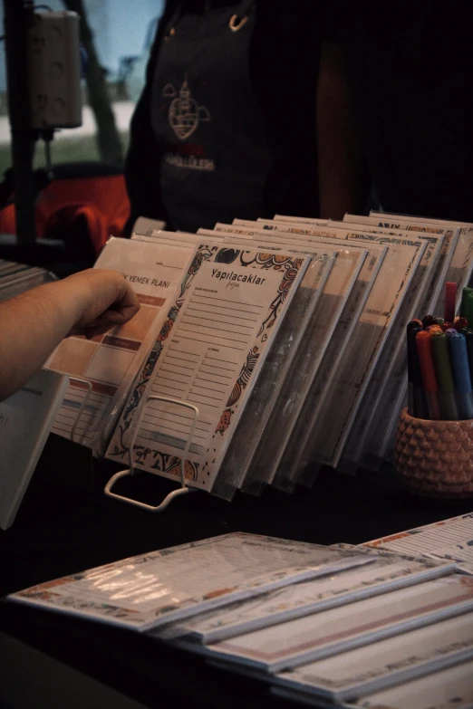
[[[36,237],[33,178],[34,131],[30,126],[27,51],[28,29],[33,22],[33,2],[30,0],[4,0],[4,8],[16,238],[18,244],[30,244],[34,242]]]

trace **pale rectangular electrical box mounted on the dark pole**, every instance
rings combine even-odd
[[[31,127],[82,125],[79,15],[35,12],[28,32]]]

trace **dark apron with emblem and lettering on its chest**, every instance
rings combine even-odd
[[[181,6],[159,48],[151,125],[169,226],[195,232],[265,216],[273,155],[248,74],[253,0],[202,14]]]

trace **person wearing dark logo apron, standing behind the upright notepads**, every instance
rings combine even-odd
[[[131,122],[130,225],[317,216],[318,6],[168,3]]]

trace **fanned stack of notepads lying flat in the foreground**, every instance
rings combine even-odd
[[[472,532],[471,515],[448,522]],[[370,544],[232,533],[8,599],[135,629],[304,704],[433,709],[473,702],[469,574]]]

